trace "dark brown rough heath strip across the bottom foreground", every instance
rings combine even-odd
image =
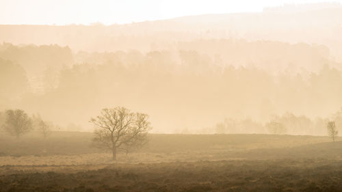
[[[342,191],[342,162],[328,160],[6,168],[0,191]]]

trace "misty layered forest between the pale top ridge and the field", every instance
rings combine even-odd
[[[62,129],[91,131],[89,118],[117,105],[164,133],[268,133],[267,122],[291,120],[286,134],[326,135],[328,118],[342,127],[341,64],[325,46],[194,40],[89,53],[3,43],[0,58],[1,111],[40,113]]]

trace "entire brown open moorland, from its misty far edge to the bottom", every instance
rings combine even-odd
[[[91,133],[0,137],[0,191],[342,191],[342,142],[291,135],[150,135],[139,152]]]

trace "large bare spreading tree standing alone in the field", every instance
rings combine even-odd
[[[143,146],[151,129],[148,115],[133,113],[124,107],[103,109],[101,115],[90,122],[96,126],[93,145],[110,150],[114,160],[118,150],[128,152]]]

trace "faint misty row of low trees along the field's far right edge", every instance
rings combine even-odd
[[[283,115],[272,115],[265,122],[258,122],[251,119],[233,119],[226,118],[213,127],[205,128],[204,133],[259,133],[275,135],[326,135],[326,127],[329,122],[333,122],[335,131],[342,128],[342,109],[330,115],[330,118],[311,119],[305,115],[294,115],[293,113],[284,113]],[[332,127],[332,124],[330,124]]]

